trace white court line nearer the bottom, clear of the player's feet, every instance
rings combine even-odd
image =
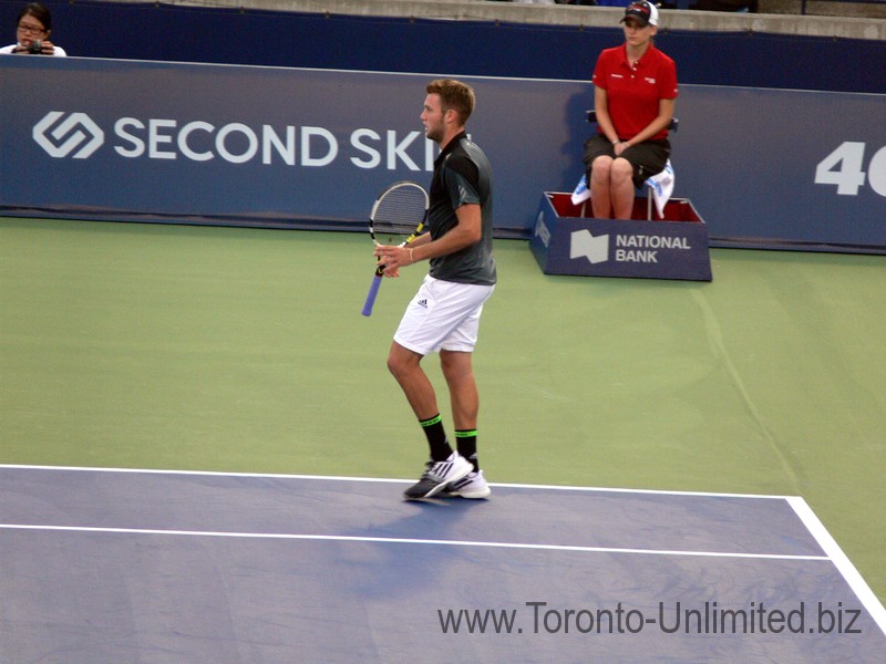
[[[41,530],[61,532],[100,532],[107,535],[165,535],[178,537],[216,537],[231,539],[312,540],[331,542],[370,542],[383,544],[436,544],[445,547],[485,547],[529,549],[542,551],[579,551],[585,553],[638,553],[643,556],[694,556],[699,558],[750,558],[762,560],[816,560],[825,556],[790,556],[781,553],[741,553],[730,551],[677,551],[666,549],[622,549],[615,547],[578,547],[569,544],[530,544],[519,542],[484,542],[470,540],[435,540],[399,537],[363,537],[350,535],[306,535],[288,532],[219,532],[212,530],[158,530],[153,528],[99,528],[89,526],[42,526],[37,523],[0,523],[0,530]]]

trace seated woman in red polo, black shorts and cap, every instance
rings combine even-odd
[[[677,65],[652,45],[658,9],[637,0],[620,22],[625,43],[600,53],[594,70],[598,133],[585,142],[590,203],[602,219],[630,219],[635,189],[664,168],[677,100]]]

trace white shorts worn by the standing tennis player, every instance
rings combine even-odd
[[[473,352],[483,303],[493,290],[494,286],[454,283],[426,276],[406,307],[394,341],[420,355],[441,350]]]

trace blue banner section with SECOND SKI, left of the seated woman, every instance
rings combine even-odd
[[[87,59],[0,59],[4,209],[93,218],[348,227],[398,179],[430,183],[433,76]],[[581,83],[465,79],[499,229],[526,235],[574,173]],[[576,106],[579,107],[579,106]],[[552,143],[556,141],[556,143]],[[34,214],[35,214],[34,212]]]

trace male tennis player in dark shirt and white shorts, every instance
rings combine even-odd
[[[431,460],[419,481],[403,494],[408,500],[441,491],[463,498],[491,494],[477,463],[477,394],[471,355],[477,340],[483,303],[495,288],[492,256],[492,168],[467,138],[465,124],[474,110],[474,91],[453,80],[431,82],[421,114],[424,133],[441,154],[431,180],[429,232],[408,247],[379,247],[375,256],[387,277],[404,266],[430,260],[431,269],[394,334],[388,369],[419,418]],[[455,425],[453,452],[440,417],[434,387],[422,359],[440,353]]]

